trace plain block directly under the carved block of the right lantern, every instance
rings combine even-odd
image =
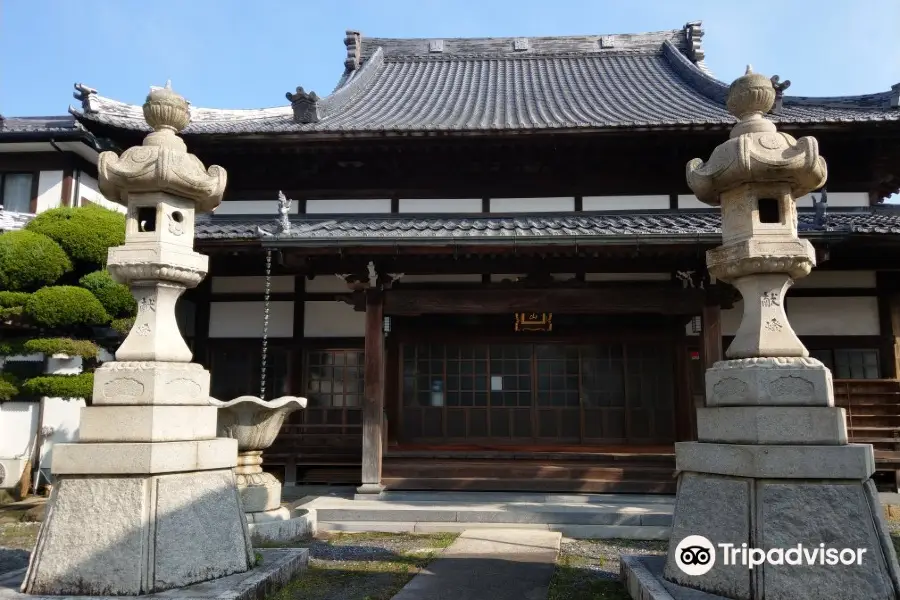
[[[697,409],[697,439],[726,444],[847,443],[843,408],[717,406]]]

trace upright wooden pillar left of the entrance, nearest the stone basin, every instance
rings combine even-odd
[[[366,291],[365,398],[360,494],[380,494],[384,419],[384,294]]]

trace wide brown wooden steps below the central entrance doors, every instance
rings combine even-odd
[[[388,490],[674,494],[675,456],[623,452],[389,451]]]

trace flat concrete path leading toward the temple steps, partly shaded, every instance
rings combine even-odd
[[[464,531],[393,600],[546,600],[561,534]]]

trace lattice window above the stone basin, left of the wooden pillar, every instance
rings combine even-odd
[[[310,408],[353,408],[362,404],[362,350],[311,350],[306,355],[306,398]]]

